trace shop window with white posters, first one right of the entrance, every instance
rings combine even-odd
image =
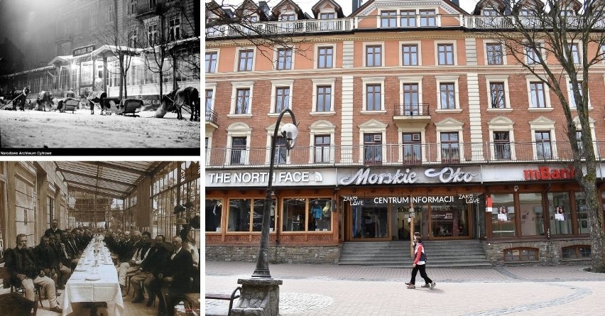
[[[512,194],[491,195],[491,234],[494,237],[515,236],[515,203]]]

